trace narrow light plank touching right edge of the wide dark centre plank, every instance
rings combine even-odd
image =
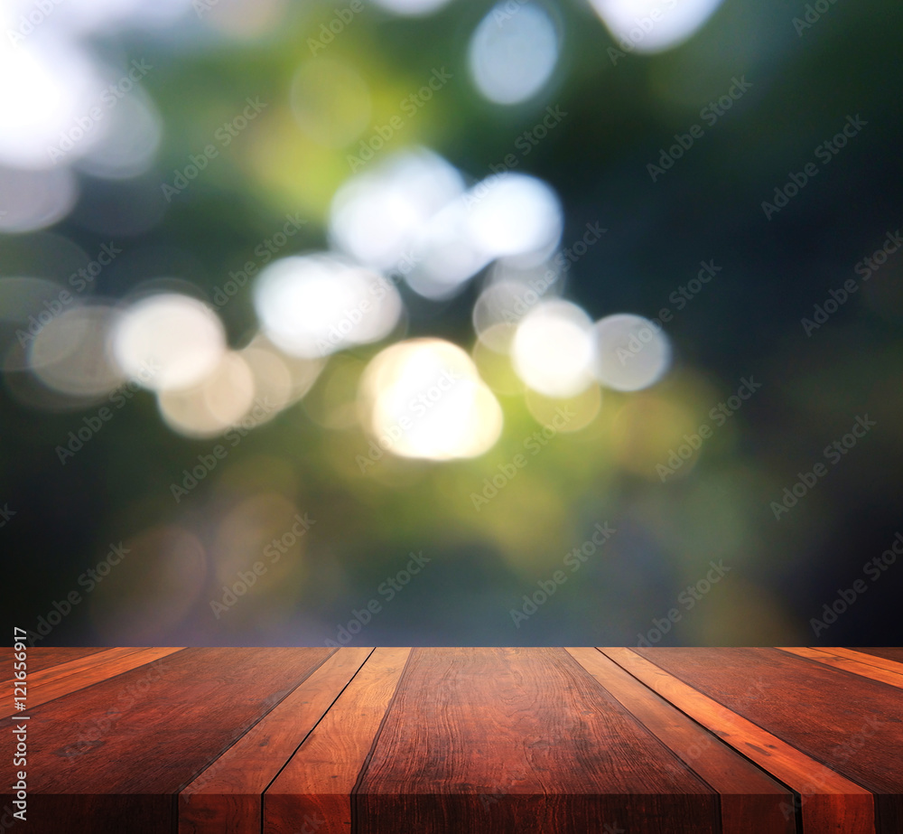
[[[721,834],[794,834],[793,794],[597,649],[567,649],[643,726],[721,795]],[[754,696],[758,690],[754,690]]]

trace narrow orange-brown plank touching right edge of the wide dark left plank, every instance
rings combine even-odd
[[[367,660],[336,651],[182,791],[180,834],[260,834],[263,793]]]

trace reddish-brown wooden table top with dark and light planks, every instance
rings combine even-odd
[[[27,821],[5,787],[0,831],[903,832],[903,649],[36,648],[27,662],[26,708],[0,705],[27,727]]]

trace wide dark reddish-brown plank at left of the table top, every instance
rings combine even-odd
[[[28,830],[175,830],[176,794],[331,653],[185,649],[30,708]]]

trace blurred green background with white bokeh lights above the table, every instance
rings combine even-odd
[[[14,624],[38,645],[900,642],[903,9],[681,3],[12,4]],[[270,295],[238,276],[295,256]],[[380,274],[370,336],[299,347]],[[663,331],[616,349],[590,325],[615,314]],[[154,351],[171,385],[135,370]],[[232,364],[199,393],[204,351]],[[472,397],[382,450],[418,362]]]

